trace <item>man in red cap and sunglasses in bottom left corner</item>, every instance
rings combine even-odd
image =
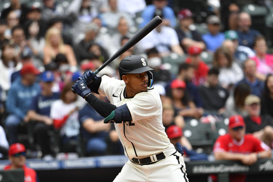
[[[23,144],[15,143],[9,147],[9,160],[11,164],[5,166],[4,170],[24,169],[24,182],[38,182],[36,172],[26,167],[26,148]]]

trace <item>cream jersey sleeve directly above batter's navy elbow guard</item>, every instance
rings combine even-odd
[[[152,94],[139,94],[126,104],[131,113],[132,122],[140,119],[152,119],[157,115],[158,102]]]

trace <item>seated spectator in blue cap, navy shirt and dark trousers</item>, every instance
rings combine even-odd
[[[59,93],[52,92],[54,75],[52,71],[45,71],[41,75],[41,92],[32,100],[28,111],[29,120],[35,121],[34,140],[45,156],[50,154],[48,131],[51,129],[53,120],[49,117],[51,104],[59,99]]]

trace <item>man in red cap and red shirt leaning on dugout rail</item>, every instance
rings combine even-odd
[[[229,117],[229,133],[218,137],[213,153],[216,160],[239,160],[245,165],[254,164],[259,158],[271,157],[271,150],[264,142],[252,134],[245,135],[245,122],[242,116]],[[246,175],[230,175],[229,181],[243,182]]]

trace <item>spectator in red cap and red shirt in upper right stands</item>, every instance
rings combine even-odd
[[[190,46],[188,49],[189,57],[186,59],[186,63],[192,65],[195,68],[195,77],[193,78],[193,84],[196,86],[202,85],[206,81],[209,67],[201,60],[200,53],[202,49],[197,46]]]

